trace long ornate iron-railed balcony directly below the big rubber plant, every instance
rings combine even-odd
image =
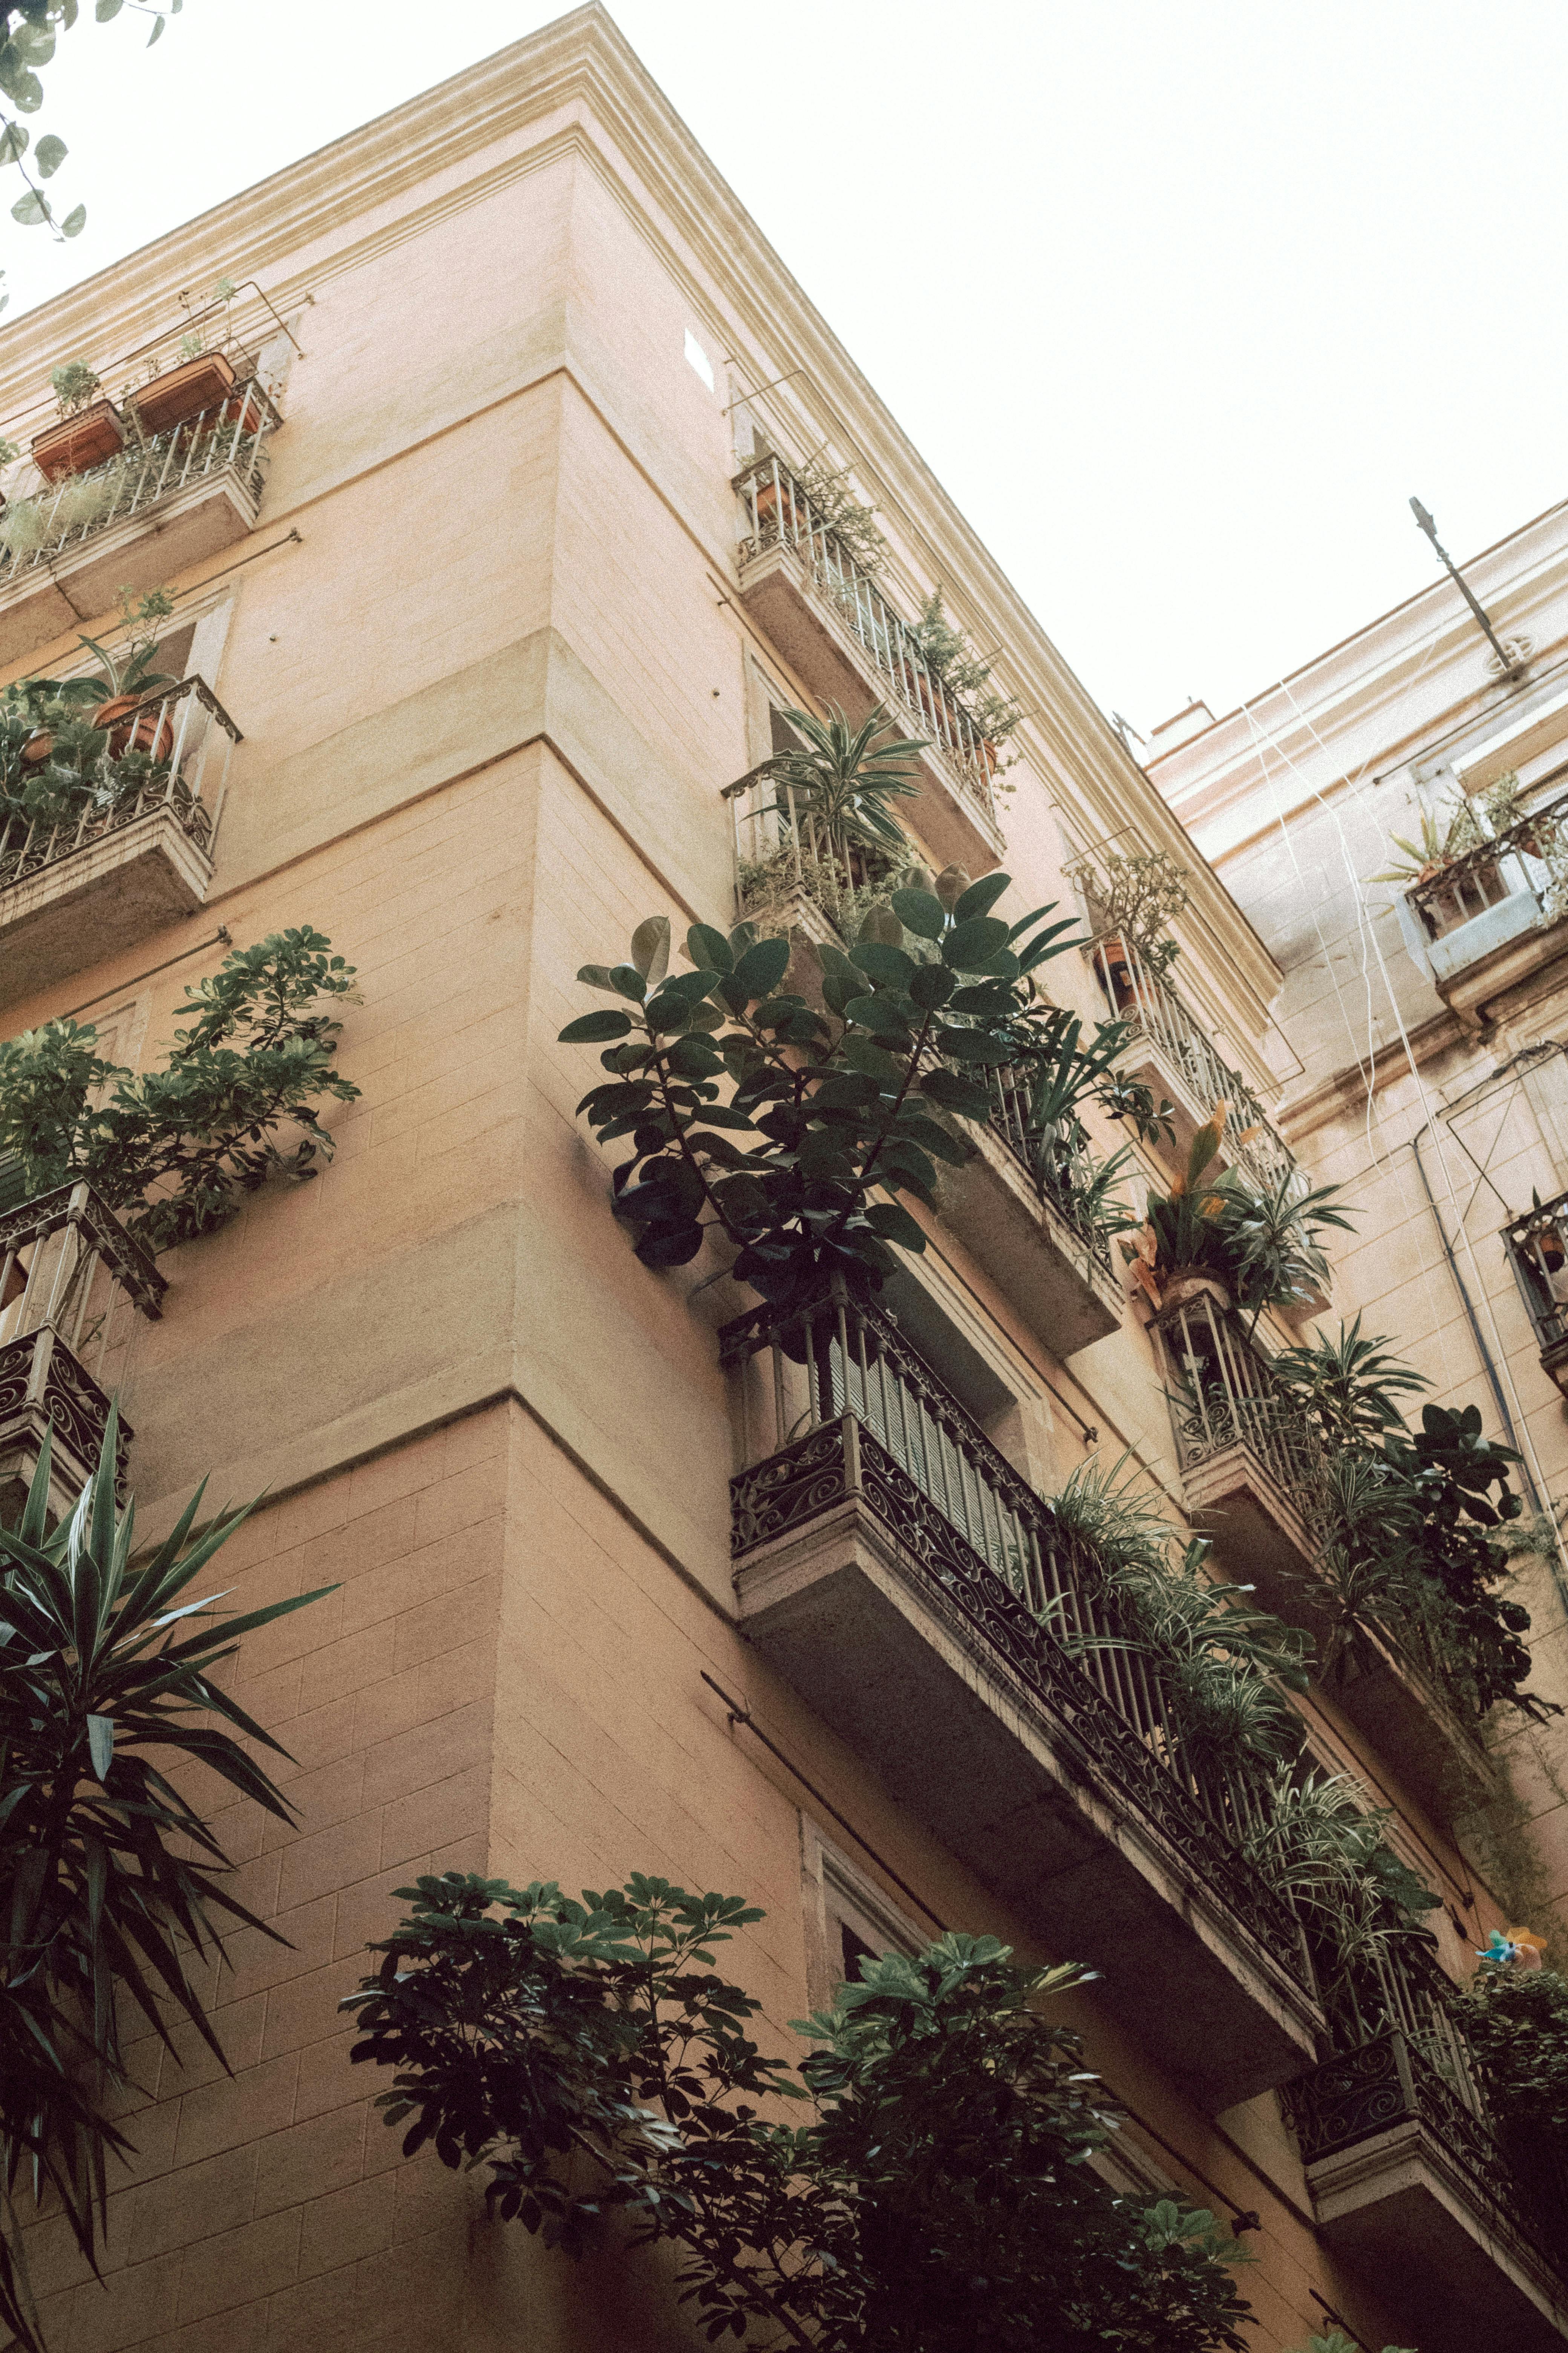
[[[1314,2059],[1300,1927],[1234,1845],[1255,1798],[1187,1762],[1145,1659],[1093,1647],[1121,1631],[1093,1560],[879,1308],[724,1346],[757,1649],[1197,2099]]]

